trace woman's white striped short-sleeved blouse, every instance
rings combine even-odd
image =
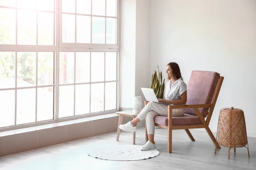
[[[166,83],[165,99],[177,100],[187,90],[186,83],[180,78],[171,85],[171,79]]]

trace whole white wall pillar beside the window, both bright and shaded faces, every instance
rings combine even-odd
[[[122,0],[120,107],[132,108],[133,96],[150,87],[150,9],[148,0]]]

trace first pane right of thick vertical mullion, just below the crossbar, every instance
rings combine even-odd
[[[60,84],[74,83],[75,54],[74,52],[60,54]]]

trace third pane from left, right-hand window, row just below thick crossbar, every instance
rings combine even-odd
[[[91,82],[104,81],[104,52],[91,53]]]

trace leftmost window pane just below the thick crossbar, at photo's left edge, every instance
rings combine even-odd
[[[15,52],[0,52],[0,88],[15,88]]]

